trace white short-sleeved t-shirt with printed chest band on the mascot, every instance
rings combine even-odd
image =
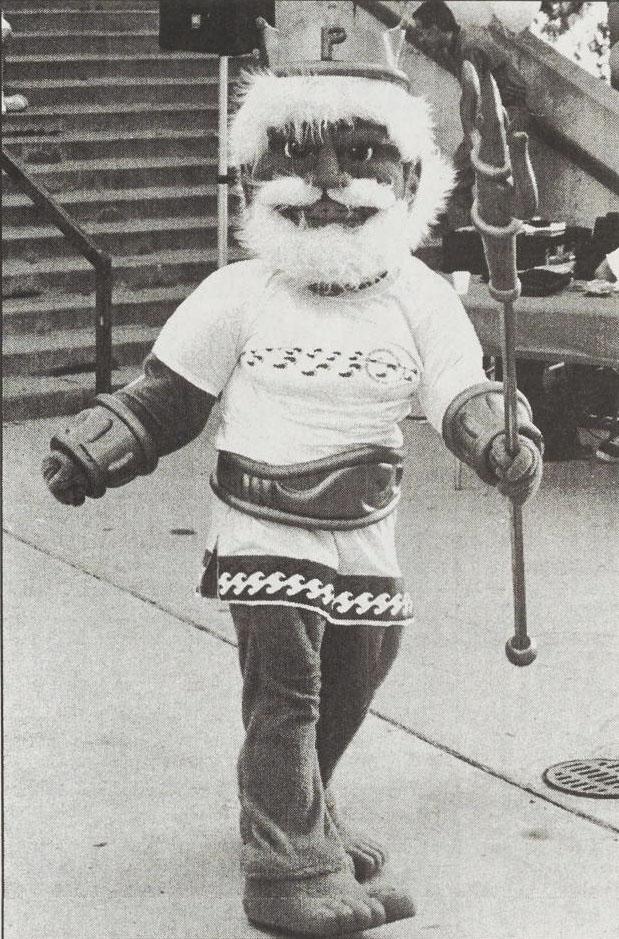
[[[334,297],[259,260],[228,265],[178,307],[153,352],[221,394],[218,449],[273,464],[400,446],[414,394],[440,433],[453,398],[485,380],[460,299],[412,257],[399,274]]]

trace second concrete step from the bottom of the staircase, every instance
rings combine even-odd
[[[113,332],[114,367],[139,365],[159,334],[158,326],[116,326]],[[95,331],[54,330],[45,335],[7,336],[2,370],[9,375],[53,375],[94,367]]]

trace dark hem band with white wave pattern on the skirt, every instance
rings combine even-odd
[[[218,565],[216,583],[211,565]],[[209,586],[207,590],[206,587]],[[231,603],[287,603],[316,610],[331,622],[402,622],[413,605],[399,578],[343,575],[307,560],[264,556],[212,556],[201,593]]]

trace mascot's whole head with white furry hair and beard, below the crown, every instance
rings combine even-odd
[[[247,203],[239,241],[304,285],[396,271],[452,184],[426,103],[382,81],[260,73],[231,140]]]

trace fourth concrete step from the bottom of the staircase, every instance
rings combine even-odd
[[[230,259],[242,257],[233,247]],[[175,284],[197,284],[217,266],[214,249],[158,251],[149,255],[131,255],[114,260],[114,289],[129,287],[171,287]],[[81,257],[43,258],[32,264],[24,260],[4,264],[2,295],[4,298],[37,297],[48,291],[94,294],[94,271]]]

